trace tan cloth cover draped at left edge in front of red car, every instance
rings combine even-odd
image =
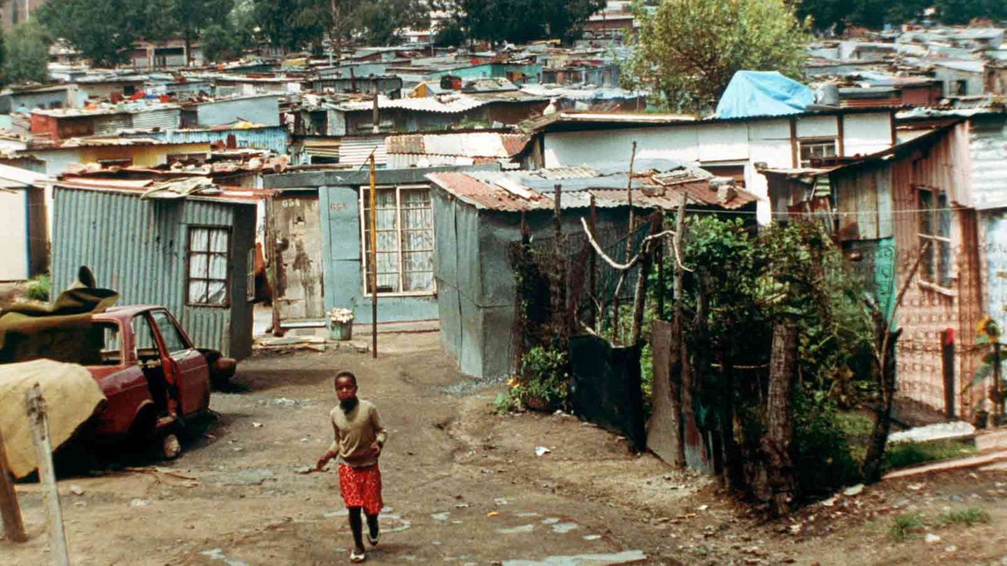
[[[25,399],[38,384],[45,400],[52,449],[58,448],[105,400],[101,386],[84,366],[51,360],[0,365],[0,432],[15,477],[37,467]]]

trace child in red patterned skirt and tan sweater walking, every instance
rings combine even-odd
[[[329,413],[335,440],[318,460],[315,469],[321,469],[333,457],[339,464],[339,491],[349,512],[349,529],[353,532],[353,550],[350,562],[364,562],[364,523],[361,511],[367,517],[368,542],[378,544],[378,514],[384,503],[381,496],[381,456],[388,433],[382,426],[378,409],[356,397],[356,376],[339,372],[335,376],[335,395],[339,404]]]

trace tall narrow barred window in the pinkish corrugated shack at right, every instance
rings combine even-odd
[[[918,238],[923,251],[919,263],[920,280],[950,288],[951,280],[951,207],[948,194],[930,187],[919,187]]]

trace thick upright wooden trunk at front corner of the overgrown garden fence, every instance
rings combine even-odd
[[[772,328],[769,360],[769,393],[766,402],[766,432],[762,437],[766,482],[772,513],[790,512],[796,491],[794,474],[794,369],[798,358],[798,327],[793,322]]]

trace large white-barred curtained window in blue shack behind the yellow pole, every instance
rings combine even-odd
[[[378,295],[434,292],[434,220],[425,185],[378,187]],[[364,290],[371,294],[371,189],[361,189]]]

